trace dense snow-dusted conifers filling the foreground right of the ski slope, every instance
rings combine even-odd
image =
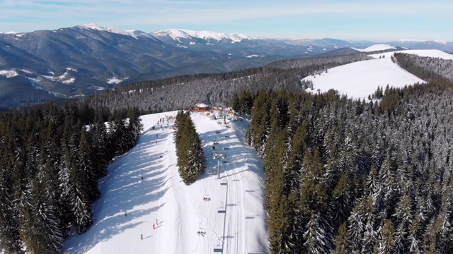
[[[453,253],[453,90],[254,97],[272,253]],[[396,99],[396,101],[395,101]]]

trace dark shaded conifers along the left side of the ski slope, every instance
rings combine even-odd
[[[98,179],[141,129],[137,110],[112,115],[76,102],[0,114],[0,250],[59,253],[71,232],[86,231]]]

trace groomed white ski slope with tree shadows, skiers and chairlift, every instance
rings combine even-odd
[[[248,120],[227,119],[226,128],[211,116],[192,115],[207,173],[185,186],[176,167],[173,123],[158,123],[175,115],[142,116],[145,131],[137,146],[115,159],[101,179],[93,226],[70,236],[62,253],[269,253],[262,162],[243,144]],[[220,179],[210,157],[213,145],[226,154]]]

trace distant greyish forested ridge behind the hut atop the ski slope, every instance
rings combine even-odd
[[[137,107],[140,114],[188,109],[199,102],[212,106],[231,105],[231,96],[260,89],[302,90],[302,78],[353,61],[368,59],[366,54],[292,59],[267,66],[221,74],[181,75],[115,87],[85,100],[92,107],[111,110]]]

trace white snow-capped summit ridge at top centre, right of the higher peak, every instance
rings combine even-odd
[[[171,37],[171,39],[180,42],[181,39],[197,38],[202,40],[231,40],[231,42],[241,42],[241,40],[256,40],[253,37],[242,35],[242,34],[226,34],[222,32],[210,32],[210,31],[193,31],[186,29],[168,29],[161,30],[159,32],[153,32],[156,37]]]

